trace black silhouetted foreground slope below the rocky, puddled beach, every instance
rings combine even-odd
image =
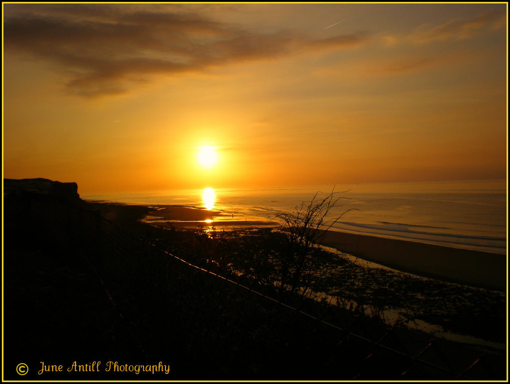
[[[504,378],[497,353],[292,296],[283,306],[253,292],[274,295],[267,287],[194,268],[80,202],[30,192],[4,207],[7,380]],[[63,372],[38,375],[41,362]],[[73,362],[101,365],[67,371]],[[107,372],[108,362],[171,371]]]

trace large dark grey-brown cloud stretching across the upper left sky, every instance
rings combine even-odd
[[[290,31],[260,34],[156,6],[16,6],[4,21],[6,51],[57,63],[71,75],[68,92],[83,96],[125,92],[158,74],[340,49],[366,40],[363,34],[322,40]]]

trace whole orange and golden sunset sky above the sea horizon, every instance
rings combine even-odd
[[[5,178],[80,194],[506,178],[506,4],[3,11]]]

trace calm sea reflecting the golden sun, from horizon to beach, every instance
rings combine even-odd
[[[507,254],[506,180],[160,190],[82,199],[182,205],[221,211],[224,220],[274,221],[333,193],[330,228],[356,234]],[[338,219],[338,220],[337,220]]]

